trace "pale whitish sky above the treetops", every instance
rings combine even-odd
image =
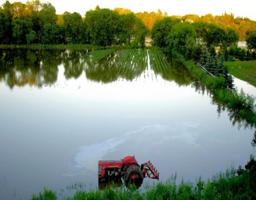
[[[26,3],[27,0],[9,0],[13,2]],[[199,16],[205,14],[221,15],[231,12],[234,16],[247,17],[256,20],[256,1],[255,0],[40,0],[41,3],[50,2],[56,9],[57,14],[68,12],[79,12],[82,16],[86,11],[94,10],[97,5],[100,8],[114,9],[122,7],[133,12],[157,11],[167,12],[168,15],[197,14]],[[0,0],[0,5],[5,0]]]

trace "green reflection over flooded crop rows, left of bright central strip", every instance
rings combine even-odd
[[[86,78],[89,80],[109,83],[125,78],[132,81],[141,75],[147,66],[147,51],[119,50],[96,63],[86,61]]]

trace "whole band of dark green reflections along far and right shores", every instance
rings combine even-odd
[[[253,123],[241,118],[238,110],[229,109],[225,103],[219,101],[217,95],[212,94],[193,78],[180,62],[168,62],[160,51],[119,50],[97,62],[93,62],[93,59],[83,59],[86,54],[88,51],[0,49],[0,81],[4,81],[10,88],[27,84],[38,87],[53,84],[57,81],[58,66],[61,62],[64,63],[65,78],[78,78],[85,69],[89,80],[108,83],[125,78],[132,81],[141,76],[150,62],[155,74],[160,74],[164,80],[174,80],[179,86],[191,85],[197,93],[203,95],[206,91],[212,98],[212,104],[217,105],[218,115],[227,111],[233,126],[254,126]],[[94,52],[94,55],[97,55],[97,52]]]

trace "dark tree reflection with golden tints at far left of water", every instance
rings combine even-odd
[[[59,51],[1,49],[0,56],[0,80],[10,88],[27,84],[41,87],[57,80]]]

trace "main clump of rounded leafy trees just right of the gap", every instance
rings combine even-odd
[[[199,45],[208,49],[220,47],[226,51],[231,45],[236,45],[238,39],[238,34],[233,29],[224,30],[213,23],[182,23],[178,19],[168,17],[156,21],[152,27],[152,45],[185,53],[188,59],[195,59]],[[182,49],[179,49],[180,47]],[[193,51],[196,51],[195,55]],[[192,56],[188,55],[188,52]]]

